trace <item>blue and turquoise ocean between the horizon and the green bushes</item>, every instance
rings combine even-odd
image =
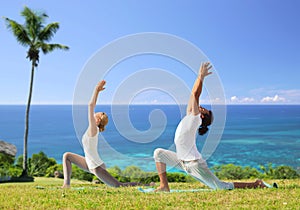
[[[107,167],[116,165],[124,169],[136,165],[145,171],[155,171],[153,151],[158,147],[175,149],[173,138],[185,107],[118,105],[113,106],[113,111],[111,108],[103,105],[96,109],[106,112],[110,119],[106,131],[99,135],[98,145]],[[25,109],[22,105],[0,106],[0,140],[16,145],[17,156],[23,152]],[[299,169],[300,105],[228,105],[226,110],[224,132],[216,149],[206,157],[209,166],[233,163],[259,168],[272,163]],[[28,157],[43,151],[61,163],[64,152],[83,155],[81,135],[85,125],[86,119],[73,123],[71,105],[32,105]],[[205,141],[205,136],[197,137],[199,151]]]

